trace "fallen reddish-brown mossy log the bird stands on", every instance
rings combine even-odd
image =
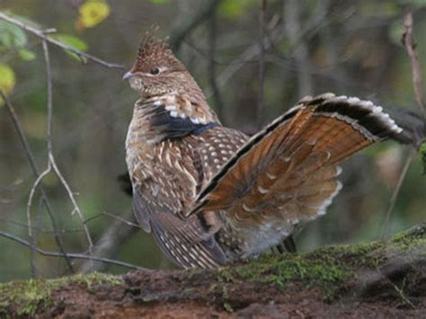
[[[395,318],[426,315],[426,224],[386,242],[218,270],[79,274],[0,285],[0,317]]]

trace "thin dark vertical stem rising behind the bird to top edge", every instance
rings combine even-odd
[[[264,118],[263,107],[263,86],[265,82],[265,46],[264,46],[264,29],[265,29],[265,11],[266,0],[262,0],[262,7],[259,13],[259,93],[257,101],[257,129],[261,129]]]

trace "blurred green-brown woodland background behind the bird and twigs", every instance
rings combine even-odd
[[[259,0],[0,0],[59,40],[123,69],[82,64],[49,46],[53,79],[53,153],[75,191],[100,253],[141,267],[168,269],[150,235],[110,215],[131,220],[131,199],[118,177],[126,173],[124,140],[137,95],[121,76],[132,65],[146,30],[158,25],[188,66],[226,126],[253,134],[306,94],[334,92],[389,108],[418,112],[412,68],[401,44],[406,9],[413,10],[417,51],[426,74],[426,2]],[[264,29],[259,28],[263,16]],[[261,19],[261,20],[262,20]],[[32,25],[32,24],[31,24]],[[16,30],[18,29],[18,30]],[[260,90],[259,40],[264,41]],[[11,40],[12,39],[12,40]],[[0,87],[10,97],[40,171],[47,167],[47,78],[40,39],[0,22]],[[262,119],[258,116],[262,91]],[[343,190],[328,214],[296,237],[299,251],[325,244],[380,238],[386,209],[408,146],[386,142],[343,164]],[[0,231],[29,240],[26,208],[34,176],[12,120],[0,105]],[[85,253],[82,224],[55,174],[43,181],[57,233],[68,253]],[[395,202],[386,235],[424,220],[426,180],[413,160]],[[36,191],[31,209],[35,244],[57,252],[51,218]],[[99,248],[99,247],[98,247]],[[31,277],[30,250],[0,236],[0,281]],[[63,258],[34,257],[37,277],[70,273]],[[75,270],[88,270],[73,260]],[[95,264],[93,269],[128,269]]]

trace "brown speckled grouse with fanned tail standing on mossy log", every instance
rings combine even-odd
[[[126,163],[138,224],[178,267],[256,258],[325,214],[340,163],[403,128],[357,97],[306,96],[252,137],[223,126],[167,40],[147,32]]]

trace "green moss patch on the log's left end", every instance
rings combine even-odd
[[[72,285],[84,285],[91,289],[93,284],[122,284],[120,277],[102,273],[78,274],[60,279],[30,279],[0,284],[0,316],[7,315],[13,306],[14,314],[35,315],[51,304],[54,290]]]

